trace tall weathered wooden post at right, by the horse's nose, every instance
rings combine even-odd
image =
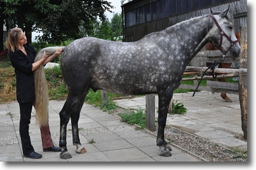
[[[240,28],[241,52],[239,55],[240,68],[247,68],[247,27]],[[247,73],[239,75],[239,102],[244,138],[247,140]]]

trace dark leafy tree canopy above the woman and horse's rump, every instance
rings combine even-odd
[[[81,25],[84,28],[91,27],[91,21],[95,21],[97,17],[103,20],[104,12],[113,8],[105,0],[0,1],[1,20],[5,21],[8,29],[22,28],[28,42],[31,41],[32,31],[42,32],[43,35],[37,37],[39,40],[55,44],[80,38]]]

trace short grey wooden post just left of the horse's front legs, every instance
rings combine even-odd
[[[155,124],[155,95],[145,95],[145,128],[156,130]]]

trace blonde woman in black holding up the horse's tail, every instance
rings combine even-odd
[[[15,68],[16,74],[17,101],[20,105],[20,138],[22,141],[22,151],[24,157],[31,159],[41,158],[42,155],[34,151],[29,136],[29,124],[35,99],[33,71],[41,64],[46,64],[60,55],[62,49],[58,48],[51,56],[46,55],[44,51],[42,59],[34,63],[37,52],[31,44],[27,44],[27,38],[21,28],[13,28],[8,31],[6,47],[9,49],[9,58],[11,65]],[[43,151],[60,152],[61,149],[53,145],[49,126],[40,127],[40,130]]]

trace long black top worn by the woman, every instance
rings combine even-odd
[[[31,44],[24,44],[24,47],[27,55],[20,50],[8,52],[11,65],[15,68],[18,103],[34,102],[35,99],[32,64],[37,52]]]

